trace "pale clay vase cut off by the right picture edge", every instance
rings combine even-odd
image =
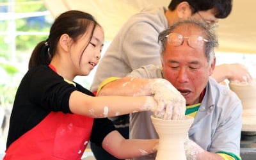
[[[256,131],[256,79],[252,83],[229,83],[230,90],[236,93],[243,105],[242,131]]]

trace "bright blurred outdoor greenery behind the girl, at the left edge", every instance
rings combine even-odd
[[[0,0],[2,4],[6,4],[8,0]],[[45,12],[47,8],[42,0],[14,0],[15,13],[33,13],[33,12]],[[4,6],[3,6],[4,7]],[[0,31],[8,31],[11,23],[8,20],[2,20],[0,25]],[[16,52],[15,61],[24,60],[20,56],[24,56],[28,59],[31,51],[35,48],[36,44],[42,40],[47,39],[47,34],[52,24],[51,15],[47,16],[34,16],[15,20],[16,31],[22,33],[29,33],[25,35],[17,35],[15,38]],[[44,32],[44,34],[33,35],[34,32]],[[10,65],[8,61],[13,61],[13,52],[10,46],[10,35],[0,35],[0,106],[10,106],[6,104],[12,104],[17,87],[19,86],[20,79],[22,79],[22,73],[20,64],[24,64],[24,61],[17,61],[15,65]],[[3,61],[4,62],[3,62]]]

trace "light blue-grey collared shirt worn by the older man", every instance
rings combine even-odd
[[[147,65],[128,74],[130,77],[163,78],[161,67]],[[240,154],[242,104],[236,93],[209,77],[204,99],[189,129],[189,138],[209,152]],[[130,115],[130,138],[158,138],[150,119],[152,112]],[[138,159],[154,159],[152,155]]]

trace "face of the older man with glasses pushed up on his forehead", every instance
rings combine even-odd
[[[182,36],[201,35],[197,28],[178,28],[172,33]],[[179,90],[186,99],[187,105],[199,102],[200,93],[204,90],[209,76],[215,67],[215,63],[209,65],[205,56],[205,46],[197,48],[188,45],[188,39],[184,38],[183,44],[172,46],[166,44],[162,56],[164,79]]]

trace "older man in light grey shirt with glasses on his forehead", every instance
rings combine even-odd
[[[127,77],[111,77],[102,83],[99,95],[154,96],[150,89],[152,81],[166,79],[186,99],[185,114],[195,117],[189,129],[189,141],[185,143],[187,158],[241,159],[241,101],[210,77],[216,61],[214,47],[218,45],[214,30],[203,22],[183,20],[161,32],[159,41],[161,67],[147,65],[133,70]],[[163,92],[161,98],[166,103],[163,105],[174,106],[168,118],[182,117],[182,108],[176,107],[172,97]],[[149,111],[131,114],[130,138],[157,138],[150,115]]]

